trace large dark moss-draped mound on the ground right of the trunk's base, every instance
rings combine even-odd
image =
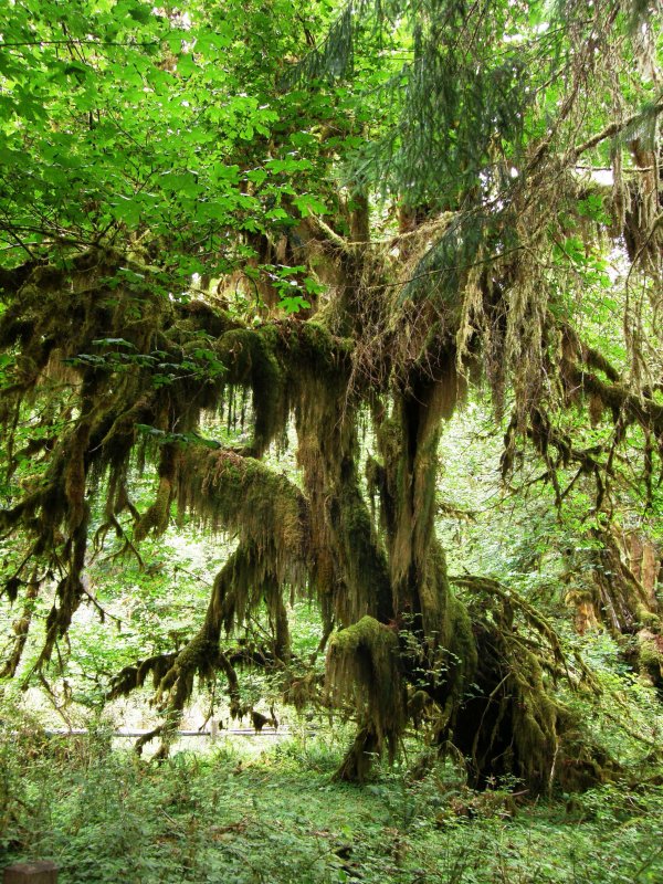
[[[474,687],[440,734],[442,743],[449,740],[465,757],[471,783],[484,787],[493,778],[511,775],[536,793],[556,782],[570,785],[576,774],[583,779],[583,788],[611,776],[617,768],[600,747],[586,741],[585,760],[579,760],[579,722],[554,697],[546,681],[548,672],[577,686],[550,624],[525,599],[495,581],[454,581],[481,588],[483,594],[472,606],[477,648]],[[494,596],[493,602],[486,603],[486,591]],[[518,627],[516,613],[539,635],[538,646]],[[575,666],[587,687],[598,690],[581,661],[576,660]]]

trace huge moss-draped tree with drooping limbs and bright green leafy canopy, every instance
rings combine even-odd
[[[326,701],[358,722],[340,776],[362,779],[424,719],[478,783],[602,776],[549,683],[588,674],[545,618],[494,579],[452,589],[438,446],[483,377],[496,419],[512,409],[505,476],[528,441],[559,505],[564,466],[593,482],[602,525],[632,431],[660,506],[652,10],[14,9],[0,45],[0,526],[22,538],[4,593],[25,613],[4,675],[39,593],[55,586],[36,671],[86,598],[91,543],[115,532],[137,552],[177,503],[238,545],[200,630],[114,681],[118,694],[154,678],[165,736],[196,676],[221,672],[236,714],[238,662],[287,682],[284,597],[299,591],[330,636]],[[606,164],[611,187],[593,175]],[[607,356],[582,298],[617,286],[608,242],[625,322]],[[219,417],[244,410],[243,391],[251,438],[227,444]],[[564,423],[585,402],[611,418],[596,444]],[[291,421],[301,483],[264,462]],[[158,486],[138,513],[129,476],[146,462]],[[273,636],[256,660],[224,635],[263,603]]]

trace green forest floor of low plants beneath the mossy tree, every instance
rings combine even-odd
[[[440,765],[334,782],[332,737],[256,744],[155,765],[104,735],[0,738],[0,869],[51,859],[60,884],[663,882],[652,770],[533,802],[517,782],[471,792]]]

